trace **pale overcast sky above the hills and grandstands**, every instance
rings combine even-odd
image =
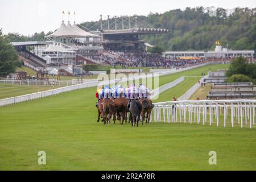
[[[164,13],[173,9],[184,10],[185,7],[256,7],[255,0],[0,0],[0,28],[4,34],[19,32],[31,35],[34,32],[48,32],[56,30],[62,20],[62,10],[65,11],[64,20],[68,20],[68,11],[76,11],[76,22],[98,20],[103,16],[114,15],[148,15]]]

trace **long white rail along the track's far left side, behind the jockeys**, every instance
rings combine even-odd
[[[168,74],[172,74],[172,73],[176,73],[176,72],[181,72],[181,71],[201,67],[201,66],[208,65],[208,64],[210,64],[210,63],[196,65],[194,67],[178,69],[175,72],[163,72],[163,73],[159,73],[159,76],[168,75]],[[154,74],[152,74],[151,77],[154,77]],[[110,80],[110,81],[107,80],[107,81],[103,81],[103,82],[98,81],[98,80],[89,80],[89,81],[86,81],[86,82],[84,82],[82,84],[78,84],[78,85],[65,86],[63,88],[58,88],[58,89],[47,90],[47,91],[44,91],[44,92],[27,94],[27,95],[24,95],[24,96],[5,98],[5,99],[0,100],[0,107],[5,106],[5,105],[10,105],[10,104],[16,104],[16,103],[19,103],[19,102],[35,100],[35,99],[38,99],[38,98],[53,96],[55,94],[69,92],[69,91],[73,91],[73,90],[77,90],[77,89],[89,88],[89,87],[97,86],[98,84],[100,84],[100,82],[101,82],[101,84],[108,84],[109,85],[109,84],[115,84],[115,83],[121,82],[121,81],[138,80],[139,78],[140,77],[129,77],[129,78],[126,77],[126,78],[119,78],[119,79]],[[146,75],[144,75],[141,78],[148,78],[148,77]],[[169,85],[169,88],[170,88],[170,85]],[[164,89],[166,89],[166,88],[163,87],[161,90],[164,90]]]

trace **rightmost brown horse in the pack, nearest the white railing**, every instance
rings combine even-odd
[[[147,98],[141,98],[139,101],[141,102],[141,105],[142,105],[141,118],[142,118],[142,125],[143,125],[146,113],[147,113],[146,123],[150,122],[150,114],[154,105],[152,105],[152,101],[148,100]]]

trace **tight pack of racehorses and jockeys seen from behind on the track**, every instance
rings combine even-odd
[[[132,84],[128,88],[123,88],[122,85],[114,85],[110,88],[108,85],[99,87],[96,92],[98,119],[102,118],[104,125],[110,123],[113,116],[113,121],[119,120],[119,124],[123,122],[130,123],[131,126],[138,126],[139,121],[146,123],[150,122],[151,110],[154,107],[150,100],[150,90],[140,84],[138,88]],[[127,115],[129,114],[129,117]],[[145,116],[146,115],[146,116]]]

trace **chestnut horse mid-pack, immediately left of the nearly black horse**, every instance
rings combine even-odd
[[[121,124],[121,120],[122,120],[122,125],[123,125],[123,121],[127,122],[127,103],[128,102],[126,98],[123,98],[123,97],[116,98],[114,100],[114,105],[115,105],[115,112],[113,114],[114,123],[116,120],[116,115],[118,116],[119,124]]]

